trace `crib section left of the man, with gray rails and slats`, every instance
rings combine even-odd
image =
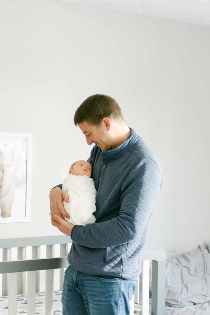
[[[17,313],[17,294],[25,294],[26,286],[27,313],[35,314],[35,296],[36,292],[40,292],[41,270],[46,270],[45,314],[53,314],[54,269],[60,269],[59,289],[62,289],[64,268],[69,265],[66,256],[70,243],[71,238],[65,235],[0,240],[0,248],[2,248],[0,291],[1,296],[9,296],[9,315]],[[60,244],[60,255],[64,257],[53,258],[55,244]],[[40,246],[42,245],[46,245],[46,259],[40,259]],[[28,246],[30,247],[28,248]],[[11,252],[15,248],[17,248],[17,260],[11,261]],[[32,260],[26,260],[26,249],[30,248]]]

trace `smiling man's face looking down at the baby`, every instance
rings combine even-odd
[[[98,126],[90,125],[84,121],[79,124],[79,128],[85,135],[88,145],[91,145],[92,143],[97,144],[102,151],[111,149],[108,141],[107,128],[103,120]]]

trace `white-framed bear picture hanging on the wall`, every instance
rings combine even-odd
[[[30,221],[31,142],[31,134],[0,133],[0,223]]]

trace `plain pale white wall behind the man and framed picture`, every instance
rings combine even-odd
[[[60,234],[49,190],[88,147],[73,124],[111,95],[162,163],[146,248],[193,249],[209,233],[210,28],[47,0],[0,2],[1,132],[33,135],[32,217],[1,238]]]

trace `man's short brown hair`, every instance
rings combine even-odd
[[[124,121],[120,106],[111,96],[95,94],[89,96],[77,108],[74,123],[77,126],[86,121],[91,125],[99,125],[103,118],[111,118],[116,122]]]

